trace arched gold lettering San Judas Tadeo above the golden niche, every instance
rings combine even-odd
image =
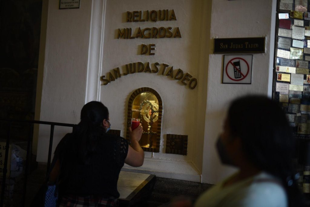
[[[142,72],[159,73],[161,71],[163,76],[168,76],[171,80],[180,80],[182,84],[187,85],[190,89],[194,89],[197,86],[197,79],[193,78],[193,76],[189,73],[184,73],[181,69],[174,70],[173,66],[169,66],[165,63],[159,64],[158,62],[151,64],[151,66],[149,62],[145,64],[142,62],[129,63],[123,66],[123,74],[121,74],[120,68],[117,67],[116,69],[113,69],[112,72],[109,72],[107,76],[102,75],[100,77],[100,80],[103,82],[101,85],[108,85],[108,83],[115,81],[117,78],[122,77],[122,75]]]

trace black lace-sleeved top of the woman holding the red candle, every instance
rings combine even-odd
[[[91,157],[90,164],[81,164],[72,133],[58,144],[55,157],[62,160],[60,193],[77,196],[98,195],[119,197],[117,180],[128,152],[128,142],[113,134],[104,134]]]

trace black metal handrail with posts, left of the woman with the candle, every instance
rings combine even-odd
[[[4,167],[3,167],[3,177],[2,177],[2,186],[1,186],[1,196],[0,196],[0,207],[3,207],[4,202],[4,189],[5,189],[5,181],[7,175],[7,161],[9,154],[9,144],[10,144],[10,130],[11,123],[13,122],[21,122],[21,123],[29,123],[32,125],[31,130],[29,131],[29,137],[27,141],[27,155],[26,155],[26,167],[25,167],[25,179],[24,179],[24,190],[23,190],[23,204],[25,204],[26,199],[26,187],[27,187],[27,178],[30,170],[30,158],[31,158],[31,147],[32,147],[32,139],[33,139],[33,124],[46,124],[51,125],[50,132],[50,142],[48,147],[48,159],[47,159],[47,175],[50,171],[51,165],[51,151],[53,146],[53,137],[54,137],[54,127],[55,126],[64,126],[64,127],[74,127],[75,124],[66,124],[66,123],[58,123],[58,122],[48,122],[48,121],[37,121],[37,120],[22,120],[22,119],[0,119],[0,122],[8,123],[8,134],[6,139],[6,148],[5,148],[5,157],[4,157]],[[30,125],[30,126],[31,126]]]

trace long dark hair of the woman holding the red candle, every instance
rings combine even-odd
[[[102,122],[108,117],[108,108],[99,101],[91,101],[83,106],[81,121],[73,130],[74,137],[77,139],[75,143],[78,148],[78,158],[82,164],[89,164],[95,154],[98,141],[106,132]]]

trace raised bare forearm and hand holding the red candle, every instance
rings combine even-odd
[[[139,145],[139,140],[141,139],[143,133],[142,125],[140,124],[133,131],[131,131],[131,128],[129,128],[129,132],[131,146],[128,146],[128,153],[125,159],[125,163],[133,167],[140,167],[144,161],[144,151]]]

